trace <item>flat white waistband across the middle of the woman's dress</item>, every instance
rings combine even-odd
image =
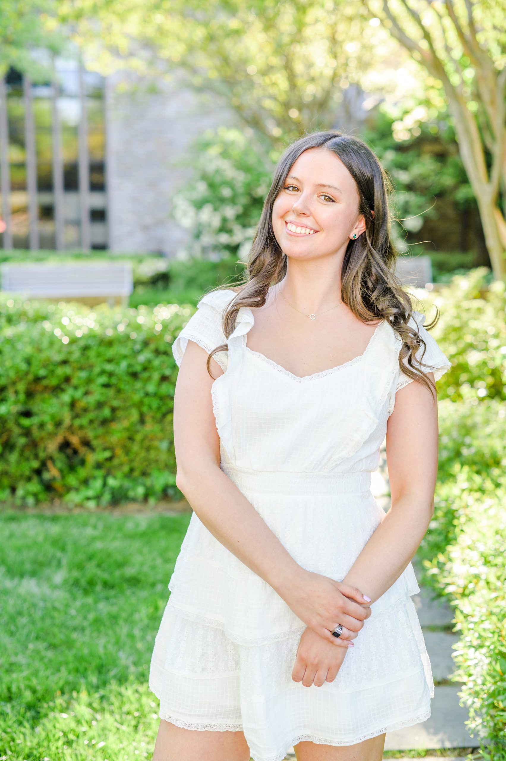
[[[270,494],[339,495],[361,494],[371,489],[371,472],[358,473],[292,473],[288,470],[248,470],[221,463],[221,470],[246,492]]]

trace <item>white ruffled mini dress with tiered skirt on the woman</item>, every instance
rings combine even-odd
[[[221,314],[235,291],[205,295],[173,342],[207,351],[226,341]],[[423,359],[438,379],[450,362],[423,327]],[[212,384],[221,470],[291,556],[342,581],[384,515],[370,491],[396,390],[401,339],[382,320],[364,353],[298,377],[247,347],[241,307],[225,370]],[[421,442],[421,446],[423,442]],[[242,730],[254,761],[281,761],[301,740],[351,745],[431,715],[431,664],[410,595],[412,564],[371,603],[333,682],[291,679],[306,624],[192,514],[168,585],[149,686],[160,717],[193,730]]]

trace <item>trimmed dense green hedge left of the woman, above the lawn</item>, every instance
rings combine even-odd
[[[178,494],[170,344],[193,307],[0,298],[0,499],[94,507]]]

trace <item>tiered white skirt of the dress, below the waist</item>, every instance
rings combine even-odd
[[[227,473],[302,567],[336,581],[384,516],[370,473]],[[243,731],[254,761],[282,761],[301,740],[352,745],[431,715],[411,563],[320,687],[291,679],[304,622],[195,513],[169,589],[149,674],[166,721]]]

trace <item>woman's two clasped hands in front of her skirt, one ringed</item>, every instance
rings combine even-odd
[[[371,616],[368,600],[357,587],[328,576],[304,571],[302,583],[283,594],[291,610],[307,624],[297,648],[291,678],[305,687],[321,687],[333,682],[345,659]],[[339,638],[332,632],[342,624]]]

